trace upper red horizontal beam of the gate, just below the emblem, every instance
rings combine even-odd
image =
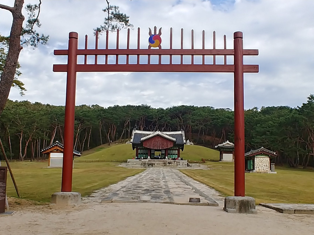
[[[68,50],[54,50],[68,55]],[[234,55],[233,49],[78,49],[78,55]],[[257,49],[243,50],[244,56],[257,56]]]

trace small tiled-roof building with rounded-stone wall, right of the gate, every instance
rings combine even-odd
[[[270,157],[276,156],[277,153],[263,147],[245,153],[246,172],[275,173],[274,164],[270,163]],[[271,168],[271,164],[273,164],[273,169]]]

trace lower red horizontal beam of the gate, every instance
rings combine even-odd
[[[54,64],[53,72],[67,72],[66,64]],[[223,72],[233,73],[233,64],[77,64],[76,72]],[[244,73],[258,73],[258,65],[243,65]]]

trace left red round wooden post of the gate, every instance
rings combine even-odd
[[[72,191],[77,49],[78,33],[70,32],[68,46],[67,92],[64,117],[62,192]]]

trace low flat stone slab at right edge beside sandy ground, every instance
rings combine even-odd
[[[283,214],[314,215],[314,204],[260,203],[259,205],[276,210]]]

